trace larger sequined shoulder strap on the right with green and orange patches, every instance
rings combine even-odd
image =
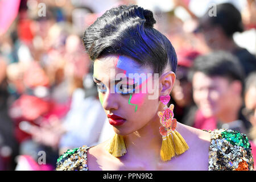
[[[245,134],[226,129],[209,132],[209,171],[254,170],[251,146]]]

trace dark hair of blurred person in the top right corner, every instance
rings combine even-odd
[[[226,36],[231,37],[234,32],[242,32],[242,16],[240,11],[232,3],[221,3],[216,6],[216,16],[209,16],[209,10],[204,18],[209,20],[212,26],[220,26]]]

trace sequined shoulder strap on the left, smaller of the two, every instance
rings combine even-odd
[[[89,148],[82,146],[65,152],[57,159],[56,171],[88,171],[87,150]]]

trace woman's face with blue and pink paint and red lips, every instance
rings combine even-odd
[[[115,133],[131,134],[158,117],[159,79],[154,76],[152,69],[126,56],[94,61],[98,96]]]

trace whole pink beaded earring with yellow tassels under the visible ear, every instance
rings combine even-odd
[[[160,96],[160,101],[167,105],[170,98],[170,96]],[[159,131],[163,139],[160,150],[160,156],[163,161],[170,160],[175,154],[183,154],[189,148],[184,138],[176,131],[177,121],[174,118],[173,110],[174,105],[171,104],[170,107],[165,106],[163,111],[158,112],[162,125]]]

